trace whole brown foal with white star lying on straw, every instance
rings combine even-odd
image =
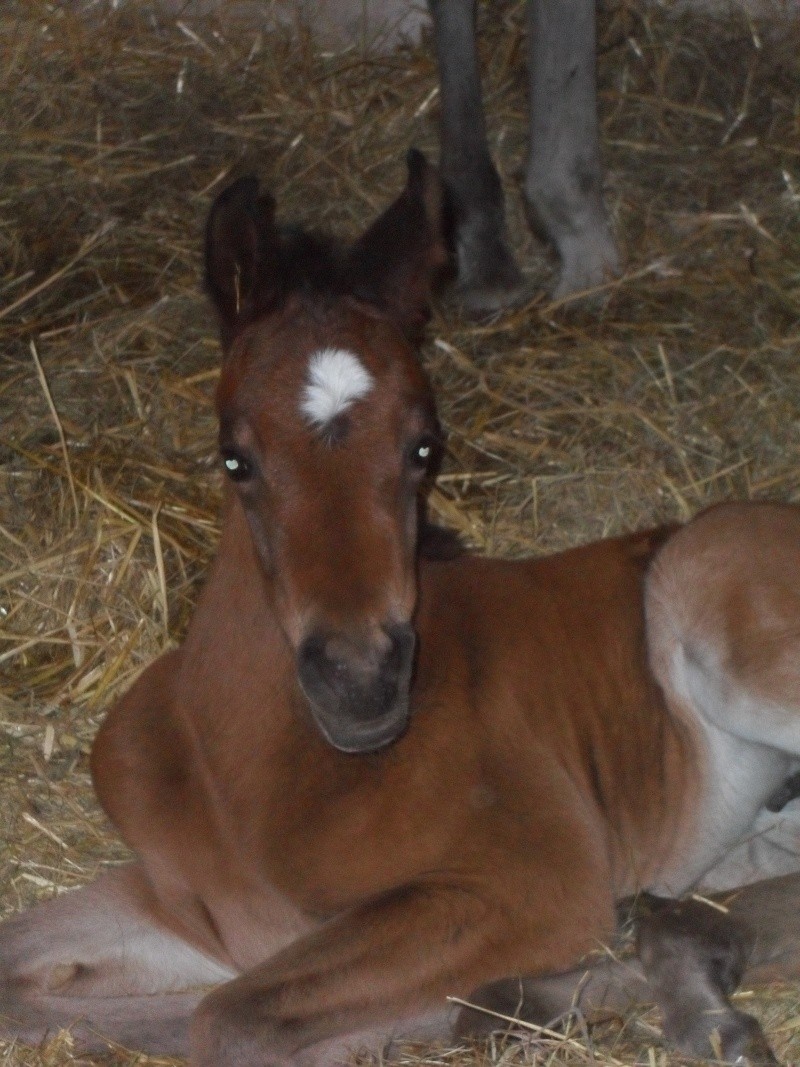
[[[345,251],[273,209],[243,179],[211,211],[221,544],[92,755],[138,858],[0,926],[4,1032],[321,1065],[444,1033],[448,994],[541,1021],[652,994],[684,1050],[772,1062],[727,994],[800,970],[797,876],[725,913],[644,896],[637,958],[596,953],[800,766],[800,511],[452,558],[422,504],[436,172],[412,154]]]

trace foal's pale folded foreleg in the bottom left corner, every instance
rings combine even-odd
[[[83,1049],[180,1055],[194,1008],[234,973],[159,920],[131,863],[0,925],[0,1035],[67,1028]]]

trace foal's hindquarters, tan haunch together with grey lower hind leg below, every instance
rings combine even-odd
[[[649,655],[691,737],[700,787],[658,888],[699,894],[642,894],[626,910],[638,927],[636,958],[608,954],[479,990],[475,1003],[490,1014],[465,1010],[462,1032],[494,1029],[491,1013],[541,1024],[651,998],[683,1051],[777,1062],[755,1020],[727,998],[742,977],[800,977],[798,822],[765,810],[800,758],[799,576],[796,507],[720,505],[661,548],[645,587]]]

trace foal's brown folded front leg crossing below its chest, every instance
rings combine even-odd
[[[422,1017],[446,1016],[448,994],[523,966],[546,968],[555,944],[526,917],[514,919],[470,888],[420,885],[397,890],[302,938],[267,964],[206,998],[191,1030],[195,1067],[338,1062],[348,1035],[380,1041],[407,1033]],[[559,931],[558,953],[570,953]],[[589,939],[576,938],[581,943]],[[575,947],[575,956],[580,950]],[[541,964],[535,960],[541,957]],[[560,961],[560,960],[559,960]],[[373,1049],[374,1051],[374,1044]]]

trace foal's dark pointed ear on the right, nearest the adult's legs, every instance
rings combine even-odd
[[[431,296],[448,251],[439,173],[415,148],[406,162],[405,189],[351,249],[345,284],[416,341],[430,318]]]

